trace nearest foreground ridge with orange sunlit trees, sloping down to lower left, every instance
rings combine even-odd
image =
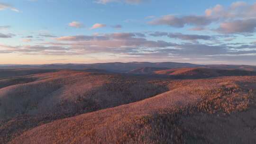
[[[172,81],[169,86],[173,89],[152,98],[38,126],[10,144],[256,141],[256,77]]]

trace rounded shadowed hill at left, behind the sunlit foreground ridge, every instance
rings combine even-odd
[[[31,126],[37,126],[146,99],[168,90],[165,85],[152,83],[145,77],[84,71],[87,70],[61,70],[0,81],[0,120],[8,125],[6,122],[14,119],[11,127],[29,121]],[[3,128],[0,135],[5,130]],[[8,136],[1,138],[1,142],[9,139]]]

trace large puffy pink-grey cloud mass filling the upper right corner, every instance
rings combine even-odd
[[[219,24],[218,29],[212,29],[221,34],[242,34],[255,32],[256,27],[256,3],[248,4],[243,1],[232,3],[229,7],[217,4],[213,8],[205,10],[204,15],[165,15],[155,18],[148,23],[150,25],[165,25],[182,28],[194,26],[189,30],[207,30],[210,24]],[[210,29],[209,29],[210,30]]]

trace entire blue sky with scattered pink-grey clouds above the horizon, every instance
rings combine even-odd
[[[0,64],[256,65],[256,1],[0,0]]]

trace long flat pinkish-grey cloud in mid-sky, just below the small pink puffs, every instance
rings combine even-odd
[[[62,36],[56,38],[58,41],[75,42],[73,46],[99,46],[99,47],[168,47],[173,46],[173,43],[165,41],[151,41],[145,38],[142,33],[112,33],[98,36]],[[66,45],[57,43],[57,45]]]

